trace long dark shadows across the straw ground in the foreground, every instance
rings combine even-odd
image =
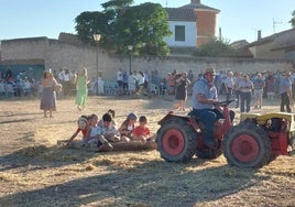
[[[69,157],[67,155],[73,154],[70,150],[61,150],[42,145],[20,150],[0,157],[3,166],[0,172],[25,165],[34,165],[32,171],[66,166],[97,155],[84,153]],[[124,153],[120,154],[123,155]],[[63,156],[67,159],[63,160]],[[107,156],[108,154],[106,159]],[[18,157],[23,159],[17,162]],[[11,163],[13,160],[14,164]],[[228,165],[196,167],[206,166],[208,162],[214,161],[194,159],[188,164],[176,164],[152,160],[132,167],[120,167],[103,162],[103,159],[95,160],[95,167],[106,167],[109,173],[6,195],[0,198],[0,206],[194,206],[236,194],[267,179],[255,175],[255,170],[240,170]]]

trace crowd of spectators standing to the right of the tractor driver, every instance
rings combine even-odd
[[[227,99],[234,97],[236,108],[240,112],[261,109],[263,99],[281,98],[280,111],[291,112],[291,103],[295,91],[295,73],[291,72],[258,72],[242,74],[240,72],[216,74],[215,84],[218,94],[225,94]]]

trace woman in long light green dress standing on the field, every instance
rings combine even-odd
[[[88,96],[88,85],[89,79],[87,76],[87,68],[83,68],[77,76],[76,88],[77,95],[75,103],[77,105],[78,110],[83,110],[86,106],[86,100]]]

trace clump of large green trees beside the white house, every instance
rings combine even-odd
[[[167,55],[164,37],[171,35],[167,13],[159,3],[130,7],[132,0],[111,0],[102,4],[102,12],[83,12],[76,18],[76,31],[84,42],[92,42],[100,33],[99,45],[105,50],[125,54],[132,45],[133,54]]]

